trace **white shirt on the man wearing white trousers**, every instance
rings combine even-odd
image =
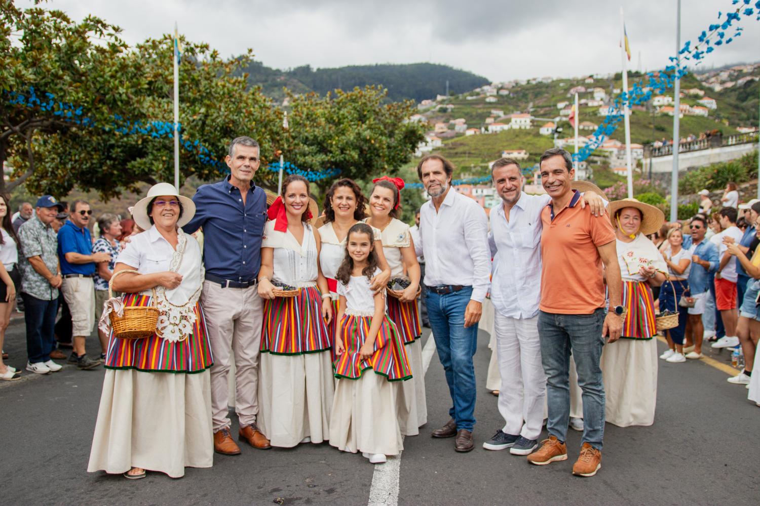
[[[541,210],[548,195],[521,192],[509,212],[491,209],[488,236],[493,256],[491,303],[502,316],[526,319],[538,314],[541,298]]]

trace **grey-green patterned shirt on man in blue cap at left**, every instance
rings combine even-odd
[[[50,225],[45,225],[33,215],[18,229],[18,237],[21,240],[21,250],[24,251],[24,259],[21,261],[21,291],[40,300],[57,299],[58,288],[52,288],[48,280],[34,270],[28,259],[40,256],[52,274],[59,272],[58,234],[55,234]]]

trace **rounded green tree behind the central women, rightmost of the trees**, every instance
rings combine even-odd
[[[302,170],[337,168],[341,177],[356,180],[397,173],[424,140],[424,130],[406,121],[413,102],[385,103],[387,94],[378,86],[325,96],[291,94],[285,159]]]

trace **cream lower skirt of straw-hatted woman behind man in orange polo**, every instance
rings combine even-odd
[[[602,350],[606,421],[651,426],[657,404],[657,341],[619,339]]]

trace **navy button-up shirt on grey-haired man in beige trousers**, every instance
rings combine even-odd
[[[206,272],[230,281],[253,281],[261,267],[261,239],[267,222],[267,195],[253,182],[245,204],[230,176],[204,184],[192,197],[195,216],[182,227],[192,234],[203,228]]]

